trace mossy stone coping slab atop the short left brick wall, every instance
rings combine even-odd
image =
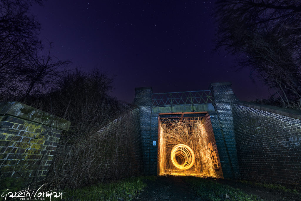
[[[71,124],[71,122],[66,119],[56,117],[50,113],[38,110],[20,102],[0,103],[0,116],[4,115],[15,116],[20,119],[44,124],[64,131],[68,131]]]

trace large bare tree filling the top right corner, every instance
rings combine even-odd
[[[301,2],[217,2],[216,47],[237,55],[284,107],[301,110]]]

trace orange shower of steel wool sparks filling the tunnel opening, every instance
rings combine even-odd
[[[161,120],[159,175],[218,177],[202,119]]]

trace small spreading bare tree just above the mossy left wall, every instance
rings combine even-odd
[[[59,60],[51,55],[51,43],[44,48],[42,44],[34,53],[17,68],[11,68],[6,75],[10,79],[2,81],[1,92],[8,95],[8,99],[26,102],[30,95],[45,94],[58,85],[59,80],[69,71],[69,60]]]

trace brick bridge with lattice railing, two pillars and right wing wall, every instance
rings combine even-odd
[[[157,174],[158,118],[173,114],[205,118],[224,178],[293,183],[301,177],[300,111],[239,101],[230,82],[211,83],[205,91],[135,92],[144,173]]]

